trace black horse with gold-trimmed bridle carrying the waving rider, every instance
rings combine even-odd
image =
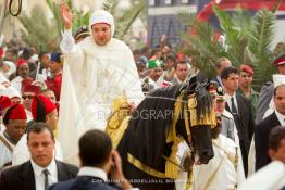
[[[191,98],[196,99],[197,121],[211,115],[211,96],[205,85],[197,85],[193,80],[189,85],[151,91],[133,113],[117,151],[122,156],[123,172],[134,187],[149,190],[174,189],[173,178],[165,175],[165,163],[175,144],[175,139],[168,140],[173,131],[174,138],[182,137],[187,142],[193,155],[199,156],[201,164],[207,164],[213,157],[210,132],[212,124],[191,124]],[[179,112],[175,112],[177,104],[181,105]],[[176,122],[173,125],[175,115]]]

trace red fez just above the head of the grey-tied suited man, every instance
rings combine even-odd
[[[53,110],[55,105],[47,98],[41,94],[35,96],[32,102],[32,115],[34,121],[37,121],[38,113],[45,110],[45,114],[48,115]]]

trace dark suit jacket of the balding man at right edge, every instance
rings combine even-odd
[[[269,135],[272,128],[276,127],[280,121],[274,113],[261,121],[255,130],[255,145],[256,145],[256,170],[265,166],[271,162],[268,154],[269,151]]]

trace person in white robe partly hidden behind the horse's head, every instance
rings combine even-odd
[[[221,121],[212,129],[214,157],[206,165],[193,166],[191,190],[236,189],[245,181],[240,150],[234,141],[221,135]]]

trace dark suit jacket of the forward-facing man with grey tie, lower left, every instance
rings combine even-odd
[[[58,181],[67,180],[77,175],[78,168],[76,166],[60,161],[55,162],[58,167]],[[2,170],[0,175],[0,189],[35,190],[35,177],[30,161]]]

